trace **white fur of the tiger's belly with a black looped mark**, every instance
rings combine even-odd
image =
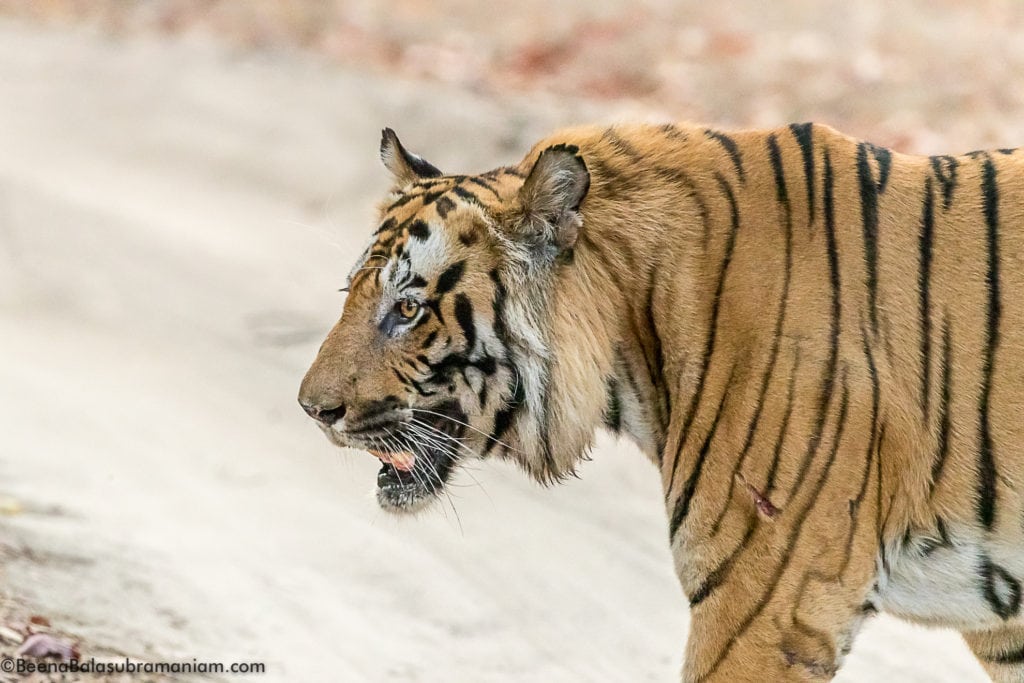
[[[982,542],[974,530],[939,531],[911,536],[880,559],[879,608],[965,631],[1021,621],[1024,548]]]

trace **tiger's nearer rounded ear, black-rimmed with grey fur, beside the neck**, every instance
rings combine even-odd
[[[580,204],[590,189],[590,171],[574,144],[556,144],[538,157],[519,189],[526,237],[553,244],[558,251],[575,245],[583,217]]]

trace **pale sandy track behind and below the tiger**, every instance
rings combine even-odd
[[[295,403],[383,124],[472,171],[598,111],[447,88],[0,22],[7,593],[95,647],[259,680],[677,679],[686,609],[632,447],[602,438],[557,489],[481,464],[458,514],[395,520]],[[880,617],[840,680],[986,679],[957,635]]]

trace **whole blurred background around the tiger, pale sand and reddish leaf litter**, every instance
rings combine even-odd
[[[0,653],[48,630],[272,681],[677,680],[631,445],[553,489],[478,464],[395,520],[298,409],[380,129],[453,172],[628,119],[1018,146],[1022,30],[1013,0],[0,0]],[[886,617],[839,678],[985,680]]]

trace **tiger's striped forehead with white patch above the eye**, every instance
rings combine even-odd
[[[471,233],[451,233],[445,221],[453,212],[472,211],[485,216],[522,184],[515,168],[499,168],[481,175],[425,178],[396,193],[383,209],[383,220],[370,246],[349,274],[349,287],[367,276],[403,289],[410,282],[438,274],[450,260],[452,240],[463,245],[476,241]]]

